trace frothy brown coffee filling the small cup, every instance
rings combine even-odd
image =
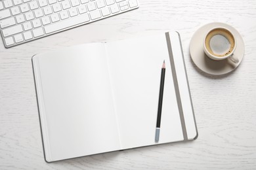
[[[224,28],[211,30],[205,37],[205,48],[216,57],[225,57],[235,48],[235,39],[230,31]]]

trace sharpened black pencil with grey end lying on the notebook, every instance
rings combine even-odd
[[[158,99],[158,118],[156,120],[156,138],[155,141],[159,141],[160,136],[160,124],[161,124],[161,107],[163,105],[163,87],[165,84],[165,61],[163,60],[163,66],[161,67],[161,81],[160,81],[160,92]]]

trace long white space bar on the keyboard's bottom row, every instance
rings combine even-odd
[[[59,31],[77,24],[89,22],[89,20],[90,18],[88,14],[81,14],[79,16],[69,18],[68,20],[63,20],[61,22],[56,22],[55,24],[45,26],[45,33],[53,33],[54,31]]]

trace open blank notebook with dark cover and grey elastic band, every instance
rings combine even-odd
[[[37,54],[32,63],[48,162],[197,137],[177,32],[81,44]]]

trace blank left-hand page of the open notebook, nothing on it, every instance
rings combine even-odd
[[[37,88],[43,92],[38,97],[48,161],[119,150],[104,43],[33,59],[41,75]]]

